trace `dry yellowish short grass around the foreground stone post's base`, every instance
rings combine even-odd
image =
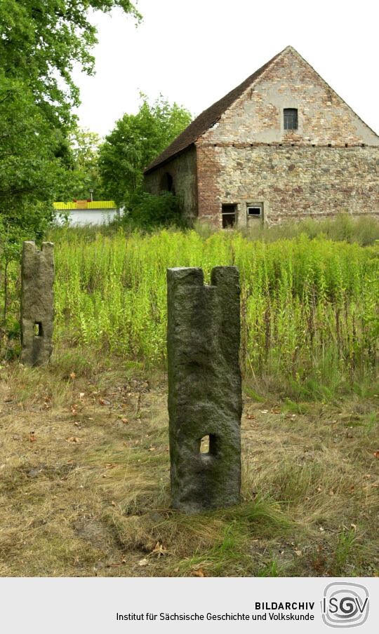
[[[55,354],[0,370],[2,576],[378,574],[378,397],[246,389],[241,504],[187,517],[170,508],[165,377]]]

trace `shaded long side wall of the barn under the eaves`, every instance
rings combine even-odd
[[[175,194],[180,199],[183,215],[194,217],[197,215],[197,172],[196,149],[190,147],[183,154],[175,156],[153,172],[145,174],[144,187],[149,194],[159,194],[165,174],[173,178]]]

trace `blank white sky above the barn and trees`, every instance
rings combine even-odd
[[[107,134],[140,90],[197,115],[291,44],[379,133],[377,0],[139,0],[95,13],[96,74],[74,73],[79,123]]]

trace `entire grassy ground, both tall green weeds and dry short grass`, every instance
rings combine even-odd
[[[19,365],[14,339],[0,370],[0,574],[378,575],[378,247],[53,239],[51,364]],[[217,264],[241,271],[242,499],[187,517],[169,497],[166,267]],[[8,323],[16,268],[11,284]]]

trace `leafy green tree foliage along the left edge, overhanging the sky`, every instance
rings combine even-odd
[[[8,240],[43,234],[53,199],[77,186],[72,68],[93,72],[88,16],[114,7],[140,18],[128,0],[0,2],[0,231]]]

